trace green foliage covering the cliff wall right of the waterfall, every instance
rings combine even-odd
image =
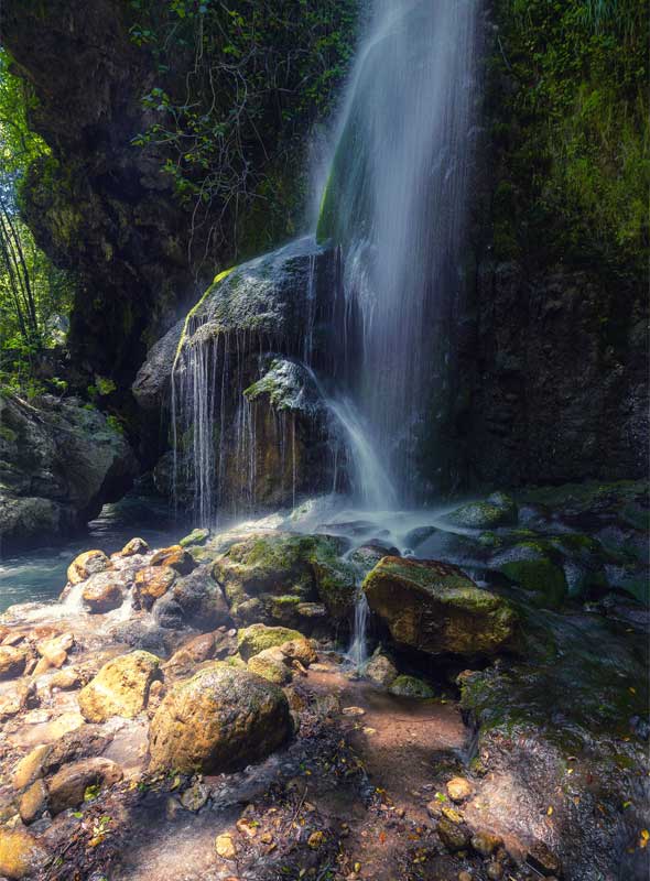
[[[497,255],[638,268],[650,186],[648,0],[499,0],[497,17]]]

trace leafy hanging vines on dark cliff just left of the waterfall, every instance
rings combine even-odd
[[[163,172],[208,242],[235,238],[254,250],[264,227],[290,235],[304,195],[304,135],[347,72],[357,1],[130,6],[131,40],[160,73],[142,99],[153,121],[133,145],[162,152]]]

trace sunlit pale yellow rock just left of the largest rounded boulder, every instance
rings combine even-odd
[[[155,655],[143,651],[109,661],[79,692],[84,718],[90,722],[104,722],[111,716],[134,718],[147,706],[159,663]]]

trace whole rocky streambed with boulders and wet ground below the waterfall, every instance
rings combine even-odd
[[[71,561],[0,619],[0,877],[644,878],[647,499],[553,492]]]

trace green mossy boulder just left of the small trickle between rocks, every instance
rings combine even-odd
[[[301,626],[301,605],[318,599],[333,618],[340,619],[354,606],[357,578],[355,569],[339,557],[347,546],[345,539],[331,535],[252,535],[217,559],[213,575],[232,616],[243,623],[262,620]]]

